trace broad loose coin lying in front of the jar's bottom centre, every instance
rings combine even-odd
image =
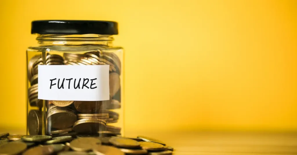
[[[70,148],[75,151],[90,151],[97,145],[101,145],[101,141],[93,137],[78,138],[70,142]]]

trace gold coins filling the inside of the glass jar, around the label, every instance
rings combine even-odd
[[[121,108],[121,61],[111,52],[89,51],[84,53],[35,55],[28,62],[28,99],[31,110],[28,113],[30,135],[42,133],[43,100],[38,97],[38,65],[109,65],[110,100],[105,101],[57,101],[45,100],[45,134],[52,137],[67,135],[102,136],[121,135],[117,123],[119,114],[113,111]]]

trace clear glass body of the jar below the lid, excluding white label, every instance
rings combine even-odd
[[[52,135],[53,137],[123,135],[124,53],[121,47],[113,47],[112,36],[39,35],[37,40],[37,46],[27,49],[27,134]],[[105,64],[110,65],[110,100],[37,99],[38,65]]]

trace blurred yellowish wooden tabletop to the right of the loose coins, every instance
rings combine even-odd
[[[137,135],[165,142],[175,155],[297,154],[297,133],[126,132],[127,137]]]

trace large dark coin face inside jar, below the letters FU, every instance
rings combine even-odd
[[[48,122],[50,122],[50,127],[60,130],[68,129],[76,121],[76,115],[71,110],[60,110],[58,107],[51,110],[52,112],[48,114],[47,118]]]

